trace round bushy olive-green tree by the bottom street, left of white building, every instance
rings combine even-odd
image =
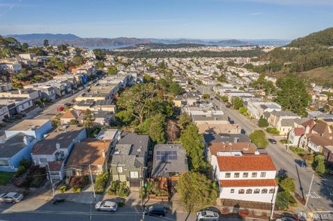
[[[182,174],[178,179],[176,189],[180,195],[180,201],[189,212],[198,211],[214,204],[218,196],[216,184],[207,179],[205,175],[196,172]]]

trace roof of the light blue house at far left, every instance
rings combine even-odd
[[[24,149],[26,147],[24,139],[31,142],[35,138],[33,136],[26,136],[24,133],[18,133],[10,136],[8,139],[3,139],[0,143],[0,158],[13,157]]]

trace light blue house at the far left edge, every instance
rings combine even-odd
[[[31,160],[31,148],[37,142],[33,136],[17,133],[0,143],[0,171],[15,172],[22,159]]]

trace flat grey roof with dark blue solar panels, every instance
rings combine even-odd
[[[186,150],[178,144],[157,144],[154,147],[152,177],[168,177],[169,173],[189,171]]]

